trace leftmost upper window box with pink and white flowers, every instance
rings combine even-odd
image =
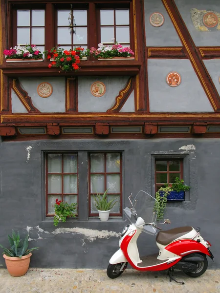
[[[17,45],[9,50],[4,50],[6,62],[36,62],[43,61],[43,54],[36,45]]]

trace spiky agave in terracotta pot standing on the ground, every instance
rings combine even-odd
[[[7,249],[0,245],[4,251],[3,257],[5,259],[5,264],[11,276],[20,277],[24,275],[29,268],[30,257],[32,255],[31,251],[38,249],[38,247],[27,249],[28,235],[26,235],[24,241],[22,241],[19,231],[16,234],[14,230],[12,230],[11,237],[8,235],[8,241],[11,248]]]

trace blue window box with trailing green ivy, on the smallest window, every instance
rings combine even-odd
[[[185,190],[189,190],[190,186],[184,184],[183,179],[176,177],[173,184],[165,183],[165,187],[159,188],[155,193],[158,202],[157,220],[162,220],[167,201],[183,201],[185,198]],[[154,211],[157,211],[157,202],[154,204]]]

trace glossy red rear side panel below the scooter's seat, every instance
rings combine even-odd
[[[204,245],[195,240],[189,239],[173,242],[166,246],[165,249],[181,256],[193,252],[201,252],[210,256],[208,249]]]

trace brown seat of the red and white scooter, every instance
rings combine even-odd
[[[176,238],[181,237],[192,230],[193,230],[192,227],[187,226],[187,227],[174,228],[167,231],[160,231],[156,235],[156,242],[162,245],[168,245],[169,243],[174,241]]]

